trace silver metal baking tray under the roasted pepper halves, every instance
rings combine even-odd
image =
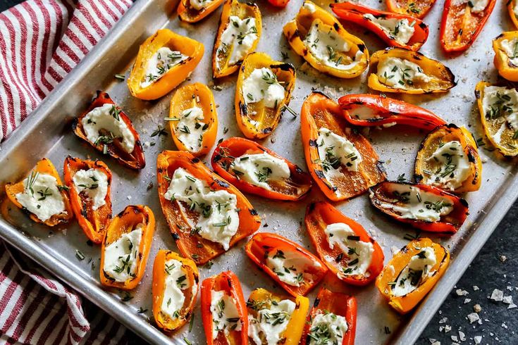
[[[99,247],[87,244],[87,238],[74,221],[61,229],[50,229],[36,225],[28,218],[18,215],[17,211],[13,211],[16,226],[0,218],[0,237],[43,265],[87,299],[94,301],[149,343],[171,344],[173,341],[175,344],[184,344],[183,338],[187,337],[193,344],[203,344],[199,305],[195,310],[192,332],[188,331],[186,325],[175,334],[166,335],[154,327],[152,320],[151,284],[155,253],[159,249],[176,250],[159,206],[155,174],[157,154],[164,149],[175,147],[170,134],[167,137],[151,136],[158,125],[166,126],[163,118],[168,114],[171,94],[159,101],[140,101],[130,96],[125,82],[113,77],[116,73],[128,75],[138,46],[160,27],[168,27],[181,35],[203,42],[205,46],[202,62],[185,83],[204,82],[210,86],[214,85],[211,80],[211,50],[221,8],[202,23],[188,25],[180,23],[175,14],[177,1],[137,1],[92,53],[54,89],[18,130],[0,145],[2,187],[6,182],[19,180],[42,157],[50,158],[60,171],[68,154],[81,158],[101,158],[105,161],[113,171],[113,213],[118,213],[128,204],[144,203],[150,206],[156,215],[154,243],[146,274],[140,285],[134,291],[130,291],[129,295],[116,289],[101,287],[98,278]],[[364,2],[377,8],[381,6],[375,0]],[[290,103],[291,108],[299,111],[304,97],[312,89],[320,90],[333,98],[343,94],[368,92],[366,73],[354,80],[328,77],[310,68],[302,58],[290,51],[281,29],[295,16],[301,4],[302,0],[291,0],[284,10],[271,7],[266,1],[259,4],[264,32],[257,51],[265,51],[278,60],[281,59],[281,52],[288,53],[289,61],[297,68],[297,82]],[[328,4],[319,5],[327,7]],[[421,52],[448,65],[457,76],[459,84],[448,94],[400,98],[424,106],[447,121],[468,127],[475,137],[479,138],[483,136],[483,131],[476,108],[474,86],[481,79],[495,81],[497,73],[492,63],[491,39],[501,31],[512,30],[512,24],[507,19],[504,6],[500,6],[499,3],[482,35],[467,53],[448,58],[443,55],[438,43],[438,23],[442,5],[440,2],[436,4],[433,11],[426,16],[431,35]],[[358,30],[354,25],[344,25],[347,30],[365,40],[371,53],[383,49],[381,41],[374,35],[365,30]],[[233,108],[235,80],[235,75],[218,80],[214,88],[218,104],[218,138],[240,136]],[[109,92],[132,118],[137,131],[140,132],[147,161],[146,168],[141,172],[123,168],[111,158],[102,156],[75,137],[70,130],[71,120],[87,107],[97,89]],[[383,130],[373,129],[366,135],[371,139],[381,160],[386,162],[385,168],[389,179],[394,180],[402,173],[407,177],[412,176],[414,157],[421,139],[424,138],[424,132],[395,126]],[[300,120],[289,113],[285,113],[277,130],[261,144],[305,167],[300,140]],[[397,315],[386,301],[383,301],[374,284],[359,289],[340,284],[333,277],[326,280],[324,284],[331,289],[344,291],[358,299],[357,343],[412,344],[517,198],[518,180],[514,178],[517,166],[512,161],[498,158],[495,152],[488,149],[491,149],[488,144],[480,149],[481,157],[485,161],[481,190],[465,196],[470,206],[467,222],[452,237],[431,236],[448,247],[452,253],[452,262],[443,278],[414,313],[405,317]],[[208,157],[204,159],[205,162],[208,161]],[[149,188],[150,182],[154,183],[154,187]],[[309,244],[302,220],[307,203],[318,199],[324,199],[318,187],[314,187],[311,194],[300,202],[268,201],[249,196],[249,200],[263,218],[263,226],[259,231],[277,232],[312,251],[314,249]],[[407,243],[407,240],[403,239],[405,234],[414,234],[411,227],[389,220],[374,210],[366,195],[338,203],[337,206],[340,211],[360,222],[376,237],[383,246],[386,261],[392,257],[393,249]],[[200,268],[202,278],[222,270],[233,270],[240,277],[245,298],[249,291],[256,287],[282,292],[282,289],[245,256],[244,244],[245,241],[240,242],[228,253],[214,260],[212,268]],[[84,260],[76,258],[76,250],[85,254]],[[313,299],[315,293],[309,297]],[[131,299],[126,301],[129,298]],[[147,311],[138,313],[140,308],[140,311]],[[390,334],[386,334],[388,332],[385,327],[388,327]]]

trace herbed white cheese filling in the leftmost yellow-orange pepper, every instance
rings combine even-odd
[[[42,222],[53,215],[66,214],[65,201],[58,189],[58,180],[49,174],[34,170],[23,180],[23,192],[15,195],[16,200]]]

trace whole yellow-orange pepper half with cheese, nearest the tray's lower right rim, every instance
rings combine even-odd
[[[414,239],[394,254],[376,279],[388,304],[405,314],[417,306],[448,268],[450,253],[431,239]]]

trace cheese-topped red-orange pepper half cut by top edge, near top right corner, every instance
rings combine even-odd
[[[440,44],[448,53],[468,49],[493,12],[496,0],[445,0]]]

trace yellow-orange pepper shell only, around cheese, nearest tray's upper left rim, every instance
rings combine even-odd
[[[168,70],[159,80],[148,87],[140,87],[149,59],[163,46],[167,46],[173,51],[180,51],[188,58]],[[203,53],[202,43],[168,29],[158,30],[140,45],[135,64],[128,77],[128,88],[132,96],[149,101],[168,94],[195,70],[199,61],[202,60]]]

